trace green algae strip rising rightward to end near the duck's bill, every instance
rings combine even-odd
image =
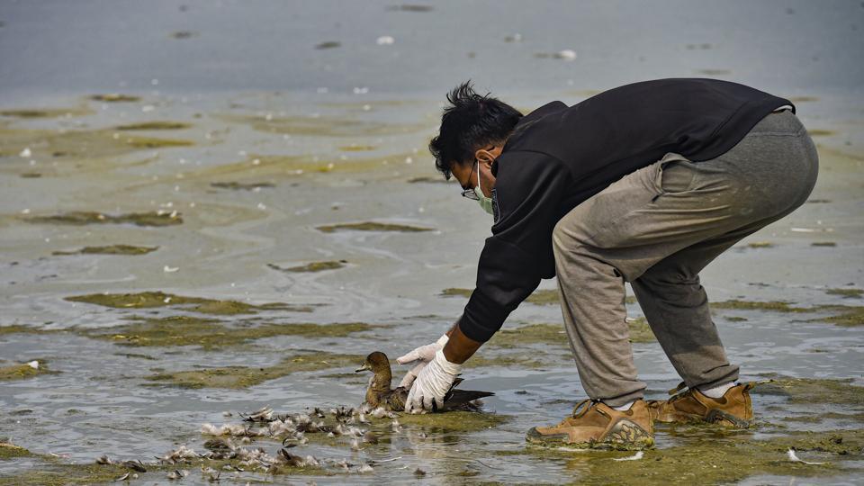
[[[225,366],[149,376],[148,381],[170,384],[180,388],[243,389],[289,374],[314,372],[331,368],[347,368],[362,363],[365,356],[340,355],[316,351],[284,358],[280,363],[266,367]]]

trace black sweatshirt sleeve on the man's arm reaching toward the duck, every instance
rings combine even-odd
[[[554,276],[552,231],[571,174],[545,154],[507,152],[498,162],[495,193],[499,220],[477,264],[477,282],[459,320],[459,329],[485,342],[510,312]]]

